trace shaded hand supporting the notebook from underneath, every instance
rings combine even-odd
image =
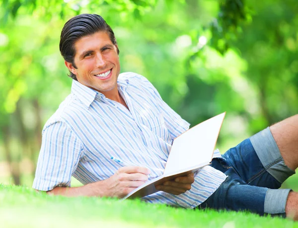
[[[180,195],[181,193],[190,190],[193,182],[195,182],[195,178],[194,174],[191,173],[188,176],[179,176],[174,180],[165,181],[163,184],[157,185],[155,188],[174,195]]]

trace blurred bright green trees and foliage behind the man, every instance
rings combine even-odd
[[[4,184],[32,185],[42,127],[72,84],[59,53],[60,32],[80,13],[103,16],[118,41],[121,72],[146,76],[192,126],[226,111],[221,152],[298,113],[297,0],[2,0],[0,5]],[[298,190],[298,177],[284,187]]]

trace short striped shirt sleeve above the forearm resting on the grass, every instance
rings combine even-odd
[[[45,127],[32,187],[41,191],[70,187],[81,154],[80,141],[65,123]]]

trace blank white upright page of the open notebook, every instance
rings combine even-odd
[[[164,176],[202,163],[209,163],[224,121],[225,112],[178,136],[171,148]]]

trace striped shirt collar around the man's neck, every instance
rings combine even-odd
[[[129,85],[129,79],[124,77],[118,77],[117,86],[118,89],[125,89]],[[94,101],[95,97],[104,98],[105,95],[102,93],[91,89],[77,80],[73,79],[72,84],[72,93],[74,93],[78,99],[87,107],[89,108],[90,104]]]

